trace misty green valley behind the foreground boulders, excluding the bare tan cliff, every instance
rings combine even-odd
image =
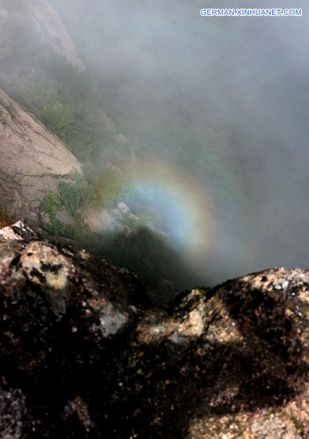
[[[208,3],[0,1],[0,87],[74,156],[27,195],[1,150],[3,209],[166,297],[309,265],[307,17]]]

